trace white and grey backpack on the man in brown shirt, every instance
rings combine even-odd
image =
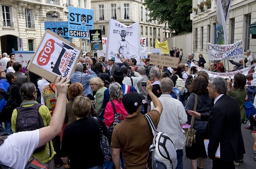
[[[172,139],[163,132],[156,131],[155,125],[148,114],[144,114],[148,125],[154,135],[153,144],[148,151],[149,169],[150,156],[152,154],[152,169],[175,169],[177,166],[177,154]]]

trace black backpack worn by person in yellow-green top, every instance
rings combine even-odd
[[[44,121],[39,113],[42,104],[34,104],[28,107],[17,107],[16,132],[32,131],[44,127]],[[49,144],[50,145],[50,144]],[[35,149],[34,153],[44,150],[46,145]]]

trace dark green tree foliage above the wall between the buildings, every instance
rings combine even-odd
[[[168,23],[175,35],[192,31],[192,0],[144,0],[148,16],[160,23]]]

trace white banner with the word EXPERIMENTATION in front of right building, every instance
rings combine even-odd
[[[209,60],[241,60],[243,59],[242,39],[230,45],[207,43]]]

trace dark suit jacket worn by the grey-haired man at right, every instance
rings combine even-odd
[[[232,106],[227,106],[232,105]],[[236,99],[224,94],[214,104],[208,119],[208,157],[215,158],[220,143],[220,160],[233,161],[245,153]]]

